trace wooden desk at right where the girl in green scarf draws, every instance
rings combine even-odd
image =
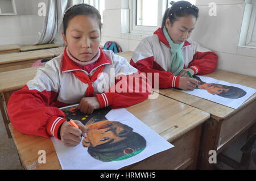
[[[255,77],[224,70],[216,70],[205,76],[256,89]],[[159,94],[210,113],[210,119],[203,125],[199,165],[201,169],[212,167],[208,162],[209,150],[216,150],[219,154],[256,121],[256,94],[236,110],[175,89],[159,90]]]

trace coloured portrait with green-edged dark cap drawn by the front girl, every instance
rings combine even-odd
[[[141,153],[146,140],[133,128],[118,121],[91,119],[86,123],[82,145],[88,153],[102,162],[121,161]]]

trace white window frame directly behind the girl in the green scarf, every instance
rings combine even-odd
[[[167,0],[158,0],[158,25],[157,26],[137,26],[136,25],[136,0],[129,0],[130,9],[130,32],[137,34],[151,35],[158,27],[162,26],[162,18],[166,11]]]

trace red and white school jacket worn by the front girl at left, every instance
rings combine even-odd
[[[59,107],[79,103],[85,96],[96,96],[101,108],[129,107],[148,98],[150,89],[141,89],[146,80],[134,74],[138,70],[125,58],[100,49],[94,68],[87,72],[68,56],[66,49],[39,68],[35,78],[11,96],[8,115],[19,132],[59,139],[57,133],[65,121]],[[138,87],[135,90],[136,85],[130,87],[131,80],[139,83],[139,91]]]

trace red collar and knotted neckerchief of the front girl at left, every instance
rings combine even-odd
[[[88,75],[85,74],[83,69],[77,65],[71,58],[69,58],[66,48],[64,50],[63,54],[63,60],[61,65],[61,71],[71,71],[81,82],[88,83],[88,88],[85,92],[86,97],[92,97],[94,96],[94,89],[92,86],[92,83],[97,80],[98,75],[100,75],[105,68],[105,64],[111,64],[111,62],[106,58],[105,53],[102,49],[100,49],[101,55],[100,58],[98,58],[96,68],[97,70],[93,72],[93,74],[88,77]]]

